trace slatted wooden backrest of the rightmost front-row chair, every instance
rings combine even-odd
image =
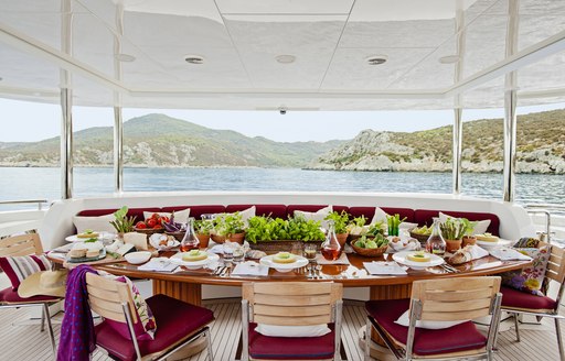
[[[488,316],[500,277],[416,281],[412,298],[422,303],[422,320],[463,320]]]

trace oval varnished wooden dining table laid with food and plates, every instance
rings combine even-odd
[[[160,256],[171,256],[175,252],[162,252]],[[60,262],[60,260],[54,260]],[[116,275],[126,275],[132,278],[152,280],[153,294],[166,294],[168,296],[194,304],[202,303],[202,285],[215,286],[241,286],[246,282],[339,282],[343,287],[369,287],[370,299],[399,299],[409,298],[412,283],[417,280],[446,278],[446,277],[469,277],[493,275],[507,271],[520,270],[531,263],[529,261],[501,261],[491,255],[473,260],[471,262],[456,265],[456,272],[447,271],[441,266],[427,267],[425,270],[407,269],[406,275],[370,275],[366,273],[363,262],[391,261],[392,254],[384,254],[379,258],[365,258],[356,253],[348,254],[350,264],[324,264],[319,271],[319,277],[311,278],[298,269],[291,272],[277,272],[269,270],[267,276],[235,276],[230,273],[223,275],[214,274],[215,270],[177,269],[175,272],[151,272],[140,271],[137,265],[127,262],[94,265],[97,270],[106,271]],[[383,348],[376,332],[372,332],[372,344],[377,350],[372,355],[381,360],[388,359],[388,351]],[[375,346],[376,344],[376,346]],[[381,347],[379,347],[381,346]],[[198,346],[192,352],[200,351],[203,344]],[[392,353],[390,354],[392,355]]]

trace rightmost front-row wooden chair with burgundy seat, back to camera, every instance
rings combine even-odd
[[[365,360],[371,359],[369,338],[372,328],[398,360],[491,360],[500,321],[500,277],[415,281],[409,299],[367,302]],[[408,326],[396,324],[408,309]],[[489,332],[483,336],[471,319],[489,315]],[[418,321],[426,321],[426,327],[436,329],[417,327]],[[446,327],[448,325],[439,326],[435,321],[461,322]]]

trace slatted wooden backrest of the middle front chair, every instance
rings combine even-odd
[[[306,326],[332,322],[332,307],[342,297],[334,283],[253,283],[243,285],[254,322]]]

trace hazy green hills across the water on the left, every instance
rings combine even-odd
[[[148,114],[124,123],[126,166],[265,166],[302,167],[340,141],[279,143],[213,130],[163,114]],[[113,129],[89,128],[74,134],[76,166],[113,164]],[[0,143],[0,166],[58,166],[60,140]]]

